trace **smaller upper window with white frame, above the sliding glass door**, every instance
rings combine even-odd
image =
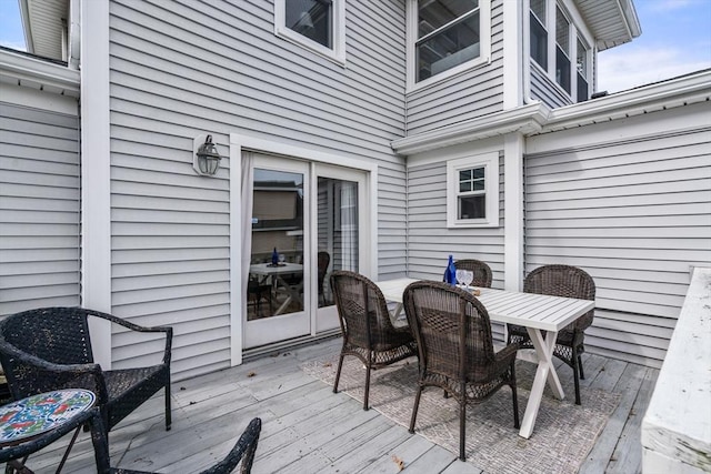
[[[274,33],[346,62],[346,0],[277,0]]]

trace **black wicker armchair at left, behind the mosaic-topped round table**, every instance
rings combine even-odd
[[[93,362],[90,316],[131,331],[163,334],[162,361],[137,369],[102,370]],[[161,389],[166,390],[166,430],[170,430],[171,345],[172,327],[140,326],[83,307],[43,307],[0,321],[0,361],[14,400],[58,389],[90,390],[109,431]]]

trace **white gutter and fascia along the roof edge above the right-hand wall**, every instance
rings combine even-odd
[[[541,133],[605,122],[711,98],[711,71],[651,84],[552,110]]]

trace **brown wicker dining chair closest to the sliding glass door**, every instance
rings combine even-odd
[[[343,334],[333,393],[338,392],[343,357],[354,355],[365,365],[363,410],[368,410],[370,371],[417,355],[414,339],[409,327],[393,326],[382,292],[368,278],[337,270],[331,273],[331,290]]]

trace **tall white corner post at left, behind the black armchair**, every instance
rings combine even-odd
[[[81,2],[81,301],[111,312],[109,1]],[[94,361],[111,369],[111,323],[91,319]]]

